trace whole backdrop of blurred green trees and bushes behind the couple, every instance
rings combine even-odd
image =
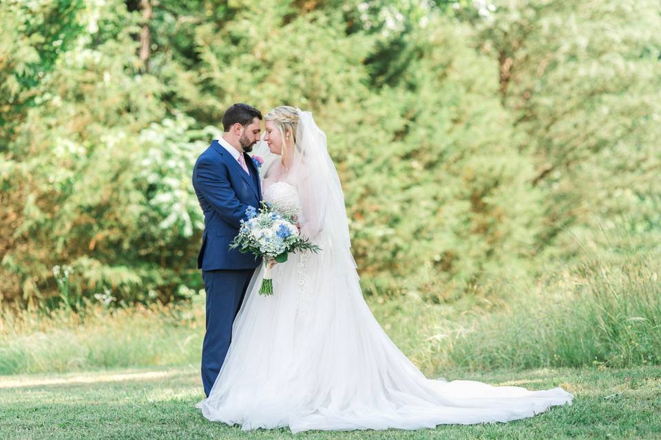
[[[651,1],[151,5],[0,5],[1,300],[201,287],[191,168],[238,101],[315,113],[368,292],[479,294],[607,248],[622,219],[658,247]]]

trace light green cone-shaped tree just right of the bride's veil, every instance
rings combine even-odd
[[[466,45],[467,28],[452,25],[438,19],[409,36],[417,61],[381,92],[397,105],[382,116],[391,140],[379,136],[376,151],[348,158],[355,170],[345,180],[367,274],[439,300],[525,274],[541,222],[532,166],[496,98],[495,65]]]

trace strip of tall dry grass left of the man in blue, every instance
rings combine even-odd
[[[0,312],[0,375],[199,362],[204,307]]]

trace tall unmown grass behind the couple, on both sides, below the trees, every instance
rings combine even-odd
[[[536,284],[503,281],[451,304],[369,296],[428,376],[456,369],[661,364],[661,256],[613,248]],[[402,292],[405,292],[403,289]],[[204,295],[191,303],[0,312],[0,374],[200,362]]]

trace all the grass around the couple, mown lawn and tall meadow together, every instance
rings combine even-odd
[[[293,436],[209,423],[193,407],[202,397],[203,296],[81,314],[0,311],[0,439],[661,439],[658,261],[633,252],[586,259],[536,285],[504,283],[452,304],[416,292],[368,297],[428,377],[576,395],[574,406],[532,419],[416,432]]]

